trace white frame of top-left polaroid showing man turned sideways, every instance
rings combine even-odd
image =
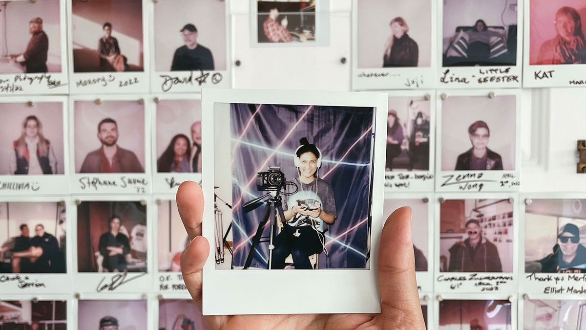
[[[10,1],[25,2],[26,0]],[[66,94],[68,92],[67,84],[69,82],[69,76],[67,72],[66,0],[56,1],[59,1],[61,72],[2,73],[0,74],[0,95]],[[29,5],[36,5],[36,1],[31,2],[32,4],[29,3]]]

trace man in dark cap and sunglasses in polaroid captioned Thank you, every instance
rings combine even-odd
[[[580,230],[565,224],[557,236],[553,253],[539,261],[541,272],[586,272],[586,248],[580,244]]]

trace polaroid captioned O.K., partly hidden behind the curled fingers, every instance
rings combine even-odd
[[[156,267],[159,275],[156,277],[155,289],[160,292],[186,292],[181,274],[181,254],[189,246],[190,240],[179,217],[175,200],[157,201],[157,225]]]

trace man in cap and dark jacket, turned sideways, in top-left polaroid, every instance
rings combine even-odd
[[[26,50],[22,54],[13,55],[12,59],[26,67],[26,73],[47,72],[47,52],[49,38],[43,31],[43,19],[33,18],[29,23],[30,37]]]

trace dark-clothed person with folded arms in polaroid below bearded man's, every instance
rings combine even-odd
[[[108,272],[122,272],[128,269],[126,255],[130,253],[128,236],[120,233],[120,217],[112,215],[108,219],[110,231],[100,236],[98,250],[104,257],[102,267]]]

